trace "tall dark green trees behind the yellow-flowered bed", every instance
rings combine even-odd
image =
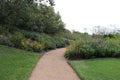
[[[54,5],[53,0],[48,0]],[[59,13],[52,6],[36,6],[33,0],[1,0],[0,29],[13,32],[16,29],[55,34],[64,29]],[[1,32],[1,31],[0,31]]]

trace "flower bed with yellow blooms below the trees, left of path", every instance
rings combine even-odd
[[[0,44],[28,51],[41,52],[43,50],[65,47],[69,45],[69,41],[55,35],[16,31],[5,35],[0,34]]]

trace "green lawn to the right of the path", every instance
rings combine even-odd
[[[82,80],[120,80],[120,59],[69,61]]]

